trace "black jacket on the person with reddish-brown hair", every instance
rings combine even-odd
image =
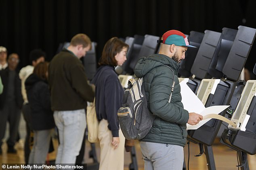
[[[48,84],[36,74],[31,74],[25,81],[25,88],[31,108],[32,129],[37,131],[54,128]]]

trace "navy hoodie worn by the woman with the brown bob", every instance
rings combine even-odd
[[[118,109],[122,106],[124,89],[112,66],[101,66],[94,78],[96,114],[99,120],[106,119],[113,137],[118,137]]]

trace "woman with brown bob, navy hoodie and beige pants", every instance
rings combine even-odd
[[[92,84],[95,84],[96,115],[99,120],[99,143],[101,148],[99,170],[124,169],[125,138],[120,129],[117,111],[122,106],[124,89],[115,73],[115,66],[122,66],[129,46],[113,37],[104,46],[100,68]]]

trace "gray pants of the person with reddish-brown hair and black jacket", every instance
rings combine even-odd
[[[44,164],[50,146],[53,129],[34,131],[34,145],[29,154],[29,164]]]

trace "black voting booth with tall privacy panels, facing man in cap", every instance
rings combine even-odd
[[[232,115],[240,99],[239,93],[244,87],[243,81],[238,79],[250,53],[255,34],[256,29],[244,26],[239,26],[237,31],[223,28],[222,33],[205,31],[191,68],[191,73],[202,79],[197,96],[205,107],[231,105],[220,115]],[[204,153],[204,146],[208,169],[215,169],[211,145],[221,123],[221,120],[211,119],[196,130],[188,130],[189,140],[203,144],[200,145],[199,155]]]

